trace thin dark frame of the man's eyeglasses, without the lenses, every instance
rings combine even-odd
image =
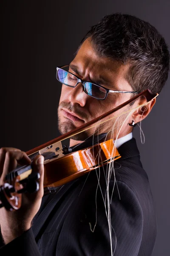
[[[68,66],[69,66],[69,64],[68,64],[68,65],[64,65],[64,66],[59,66],[59,67],[56,68],[56,70],[57,70],[57,72],[58,72],[59,69],[64,70],[63,68],[64,68],[64,67],[68,67]],[[66,72],[70,73],[71,75],[75,76],[75,77],[77,78],[77,84],[81,83],[81,84],[83,85],[83,90],[84,90],[84,92],[85,92],[87,95],[89,95],[89,96],[91,96],[91,95],[88,94],[88,93],[85,91],[85,83],[87,83],[87,82],[88,82],[88,83],[91,83],[91,84],[94,84],[94,85],[96,85],[96,86],[98,86],[98,87],[101,87],[101,88],[103,88],[103,89],[105,89],[105,90],[106,90],[106,95],[105,95],[105,98],[104,98],[104,99],[106,99],[108,93],[139,93],[139,92],[136,92],[136,91],[117,91],[117,90],[109,90],[108,88],[105,88],[105,87],[102,86],[102,85],[95,84],[95,83],[92,83],[92,82],[90,82],[90,81],[84,81],[84,80],[80,79],[78,76],[74,75],[73,73],[71,73],[71,72],[69,72],[69,71],[67,71],[67,70],[64,70],[64,71],[66,71]],[[59,79],[57,78],[57,72],[56,72],[56,79],[59,81]],[[59,82],[62,83],[61,81],[59,81]],[[62,83],[62,84],[65,84],[65,83]],[[75,86],[71,86],[71,85],[68,85],[68,84],[65,84],[65,85],[66,85],[66,86],[69,86],[69,87],[72,87],[72,88],[75,88],[75,87],[77,86],[77,84],[76,84]],[[99,99],[99,98],[94,97],[94,96],[91,96],[91,97],[93,97],[94,99]],[[99,99],[99,100],[104,100],[104,99]]]

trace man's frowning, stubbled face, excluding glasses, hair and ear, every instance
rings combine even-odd
[[[71,62],[69,71],[82,80],[97,83],[110,90],[132,91],[132,87],[126,79],[128,69],[128,65],[109,60],[108,58],[100,58],[91,46],[90,39],[86,39]],[[99,100],[87,95],[83,91],[81,83],[77,84],[74,88],[63,84],[58,108],[59,131],[61,134],[65,134],[115,108],[131,97],[132,94],[130,93],[108,93],[105,100]],[[117,116],[118,113],[120,114],[123,111],[125,111],[125,108],[113,113],[112,116]],[[110,117],[111,115],[105,119]],[[116,122],[114,125],[116,132],[119,126],[121,126],[123,119],[125,120],[125,115],[120,117],[119,122]],[[74,137],[74,140],[85,140],[94,134],[95,131],[99,134],[108,132],[112,129],[114,120],[101,124],[99,131],[97,131],[97,128],[91,128],[82,134],[78,134]],[[128,125],[128,122],[131,122],[130,118],[123,125],[119,137],[130,132],[131,127]]]

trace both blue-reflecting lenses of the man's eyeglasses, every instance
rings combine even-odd
[[[75,87],[77,84],[77,77],[72,75],[71,73],[59,69],[57,72],[57,79],[62,83],[69,85],[71,87]],[[96,84],[92,84],[91,82],[85,82],[84,90],[88,95],[93,96],[97,99],[105,99],[106,90]]]

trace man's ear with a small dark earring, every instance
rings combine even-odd
[[[141,102],[143,101],[143,102]],[[140,121],[142,121],[145,117],[147,117],[147,115],[150,113],[150,111],[152,110],[153,106],[156,103],[156,98],[154,98],[151,102],[149,102],[147,105],[145,105],[146,100],[140,100],[139,105],[143,105],[142,107],[140,107],[138,110],[136,110],[133,114],[132,114],[132,119],[134,120],[135,123],[138,123]]]

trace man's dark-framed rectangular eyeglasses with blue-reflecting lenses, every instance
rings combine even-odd
[[[77,84],[82,83],[83,90],[89,96],[94,97],[95,99],[105,99],[108,93],[138,93],[135,91],[117,91],[109,90],[101,85],[91,83],[89,81],[83,81],[78,76],[70,73],[69,71],[64,70],[63,68],[69,67],[69,65],[57,67],[56,78],[62,84],[65,84],[70,87],[76,87]]]

